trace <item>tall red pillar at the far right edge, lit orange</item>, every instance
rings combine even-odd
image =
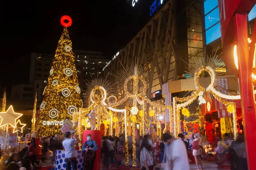
[[[239,85],[241,106],[244,122],[244,137],[247,152],[247,165],[249,170],[256,167],[255,141],[256,141],[256,111],[252,84],[252,67],[249,56],[247,12],[235,14],[236,44],[239,61]],[[231,56],[230,56],[231,57]],[[253,60],[251,60],[253,61]]]

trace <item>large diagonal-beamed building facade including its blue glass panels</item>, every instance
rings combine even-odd
[[[143,5],[142,1],[135,3],[137,8],[140,5]],[[113,55],[105,65],[103,75],[108,75],[108,80],[114,83],[119,70],[138,64],[153,75],[147,79],[151,93],[148,97],[158,104],[164,104],[166,100],[156,98],[156,94],[161,96],[162,87],[167,82],[189,78],[185,71],[188,67],[186,63],[190,62],[191,57],[218,55],[215,63],[220,69],[216,71],[223,76],[231,76],[225,81],[225,87],[237,94],[237,77],[223,65],[218,0],[152,0],[149,9],[153,8],[157,10],[150,13],[151,20],[125,47]],[[255,19],[249,17],[251,33]],[[141,86],[140,91],[142,88]],[[179,92],[172,94],[172,97],[186,95],[187,92]],[[171,101],[169,105],[172,105]],[[157,108],[151,109],[159,112]],[[165,111],[161,112],[164,114]]]

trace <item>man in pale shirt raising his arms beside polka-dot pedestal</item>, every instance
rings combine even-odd
[[[76,155],[75,155],[75,144],[77,144],[77,139],[75,136],[70,136],[70,132],[65,132],[65,140],[62,142],[62,145],[65,148],[65,161],[66,161],[66,170],[77,170],[76,164]],[[71,139],[72,138],[72,139]]]

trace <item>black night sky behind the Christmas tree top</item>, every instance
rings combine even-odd
[[[153,1],[153,0],[152,0]],[[72,20],[70,38],[73,49],[102,51],[111,58],[150,20],[151,0],[38,0],[2,2],[2,53],[0,57],[0,95],[11,85],[28,83],[32,52],[55,54],[63,26],[60,19]]]

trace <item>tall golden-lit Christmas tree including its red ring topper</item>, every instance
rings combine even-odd
[[[61,134],[61,121],[72,120],[73,113],[82,107],[75,56],[67,30],[71,23],[70,17],[61,18],[64,30],[58,42],[47,86],[44,89],[44,98],[36,119],[37,137]]]

